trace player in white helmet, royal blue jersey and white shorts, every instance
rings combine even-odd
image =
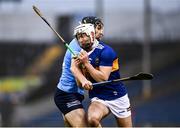
[[[89,90],[91,104],[87,114],[88,124],[91,127],[101,127],[100,121],[111,112],[118,126],[132,127],[130,101],[122,82],[94,88],[91,83],[84,84],[84,76],[92,83],[120,78],[115,51],[102,41],[97,41],[91,30],[87,29],[91,28],[83,24],[75,28],[74,34],[84,50],[81,50],[78,58],[73,59],[71,71],[78,86]],[[82,64],[83,69],[80,67]]]

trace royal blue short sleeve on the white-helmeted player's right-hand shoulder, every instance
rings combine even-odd
[[[114,50],[111,47],[105,47],[101,52],[100,66],[112,66],[116,58],[117,56]]]

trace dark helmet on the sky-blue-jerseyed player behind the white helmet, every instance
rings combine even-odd
[[[94,27],[96,27],[97,25],[103,25],[103,22],[100,18],[98,17],[95,17],[95,16],[87,16],[87,17],[84,17],[81,21],[82,24],[87,24],[87,23],[90,23],[90,24],[94,24]]]

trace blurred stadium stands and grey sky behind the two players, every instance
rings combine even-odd
[[[53,92],[66,49],[32,5],[67,42],[82,17],[101,17],[122,77],[154,74],[125,83],[134,126],[180,126],[179,0],[0,0],[0,126],[64,126]]]

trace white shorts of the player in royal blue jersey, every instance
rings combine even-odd
[[[109,110],[118,118],[126,118],[131,115],[130,101],[128,95],[124,95],[115,100],[101,100],[97,97],[91,99],[91,102],[100,102],[107,106]]]

